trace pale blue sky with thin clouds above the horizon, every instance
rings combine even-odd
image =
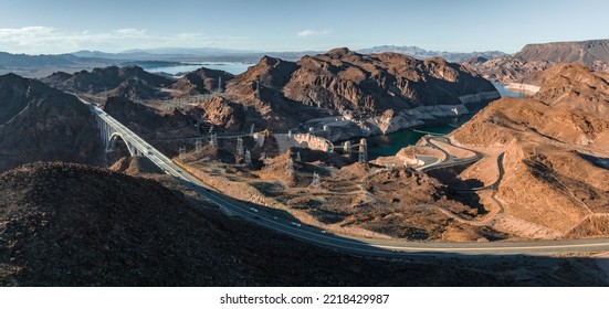
[[[387,44],[513,53],[527,43],[609,39],[607,12],[603,0],[0,0],[0,51]]]

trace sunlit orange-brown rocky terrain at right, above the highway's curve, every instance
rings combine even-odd
[[[414,153],[447,159],[424,141],[371,164],[298,148],[249,168],[230,154],[218,162],[204,152],[185,162],[227,194],[336,233],[450,242],[607,235],[607,82],[570,64],[545,71],[539,81],[535,97],[494,102],[451,135],[455,145],[484,153],[474,164],[427,173],[405,168]],[[454,158],[474,156],[433,146]],[[222,149],[234,153],[233,145]],[[255,158],[263,152],[252,151]]]

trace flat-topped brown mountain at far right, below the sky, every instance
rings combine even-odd
[[[521,83],[532,73],[557,63],[577,63],[594,71],[609,70],[609,40],[528,44],[513,55],[490,60],[470,58],[468,65],[500,83]]]

